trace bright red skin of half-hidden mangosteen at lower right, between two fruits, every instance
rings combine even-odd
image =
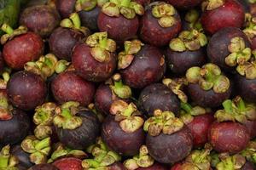
[[[212,113],[208,113],[201,116],[194,116],[192,122],[187,125],[193,136],[194,148],[202,147],[207,143],[208,130],[214,121]]]

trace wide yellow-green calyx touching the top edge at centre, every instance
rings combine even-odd
[[[126,19],[131,20],[136,17],[136,14],[143,15],[144,8],[131,0],[109,0],[102,6],[102,13],[113,17],[119,17],[122,14]]]

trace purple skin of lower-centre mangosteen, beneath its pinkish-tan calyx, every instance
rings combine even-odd
[[[107,116],[102,123],[102,140],[108,147],[121,156],[135,156],[144,143],[143,127],[133,133],[125,133],[114,121],[114,116]]]

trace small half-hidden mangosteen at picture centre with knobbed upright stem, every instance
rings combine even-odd
[[[131,98],[131,88],[122,82],[121,76],[117,73],[113,75],[112,79],[96,89],[94,99],[97,111],[108,115],[114,100],[125,99],[125,101],[129,101],[129,98]]]

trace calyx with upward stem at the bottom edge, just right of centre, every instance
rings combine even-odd
[[[136,170],[139,167],[151,167],[154,164],[154,159],[149,156],[148,148],[146,145],[142,145],[139,155],[133,156],[124,162],[124,166],[127,170]]]

